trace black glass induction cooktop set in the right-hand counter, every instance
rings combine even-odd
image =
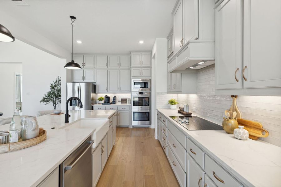
[[[198,116],[170,116],[187,130],[224,130],[222,126]]]

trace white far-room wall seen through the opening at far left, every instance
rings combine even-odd
[[[4,116],[13,114],[15,109],[15,73],[22,73],[21,63],[0,63],[0,112]]]

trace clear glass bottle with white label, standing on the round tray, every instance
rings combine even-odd
[[[22,120],[19,110],[15,110],[12,122],[10,124],[10,143],[18,142],[22,139]]]

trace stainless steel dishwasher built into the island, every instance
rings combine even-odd
[[[89,137],[60,164],[60,187],[92,186],[91,146],[93,143],[94,141]]]

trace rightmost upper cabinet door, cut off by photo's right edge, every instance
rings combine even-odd
[[[280,7],[280,0],[244,1],[244,88],[281,87]]]

